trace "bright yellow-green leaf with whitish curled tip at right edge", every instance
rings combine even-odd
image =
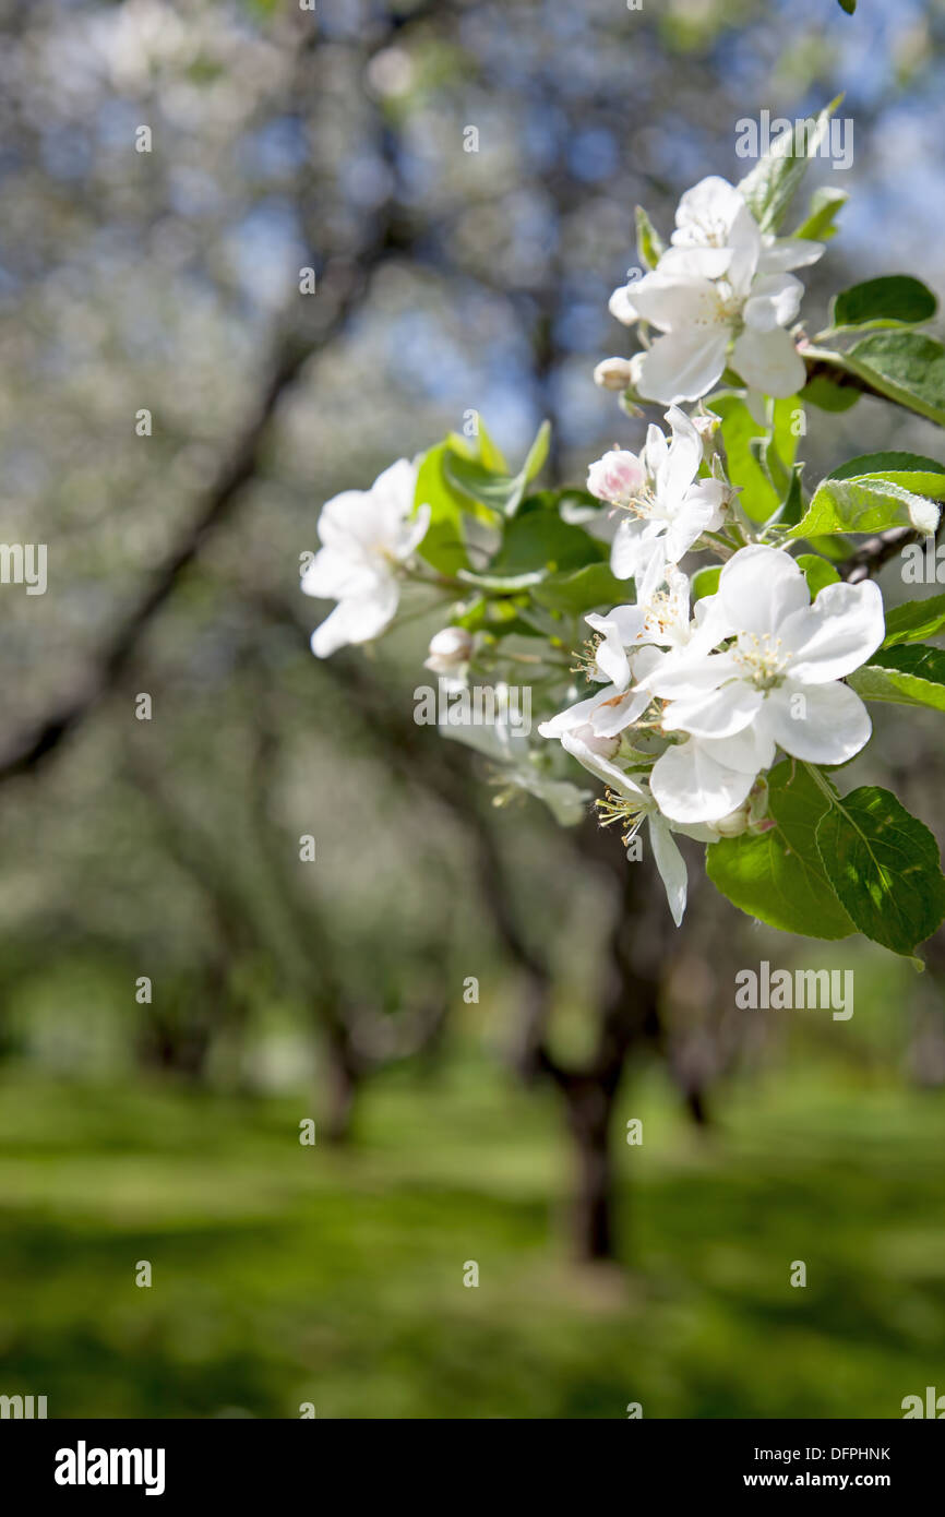
[[[889,463],[899,464],[890,467]],[[880,467],[872,467],[880,464]],[[851,473],[851,470],[859,470]],[[865,454],[836,469],[813,493],[792,537],[830,532],[884,532],[890,526],[934,531],[934,507],[945,499],[945,469],[915,454]],[[930,525],[931,523],[931,525]]]

